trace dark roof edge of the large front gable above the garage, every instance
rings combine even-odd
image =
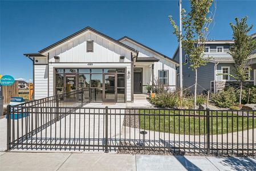
[[[63,43],[63,42],[66,42],[67,40],[70,40],[70,39],[74,38],[75,36],[77,36],[77,35],[79,35],[79,34],[82,34],[83,32],[85,32],[85,31],[87,31],[87,30],[90,30],[90,31],[92,31],[92,32],[95,32],[96,34],[99,34],[99,35],[103,36],[104,38],[106,38],[106,39],[108,39],[108,40],[111,40],[112,42],[115,42],[115,43],[119,44],[120,46],[123,46],[123,47],[127,48],[127,49],[130,50],[130,51],[133,51],[133,52],[135,52],[135,53],[137,52],[135,49],[133,49],[133,48],[127,46],[126,44],[123,44],[123,43],[121,43],[121,42],[119,42],[119,41],[117,41],[117,40],[115,40],[115,39],[113,39],[113,38],[111,38],[111,37],[109,37],[109,36],[107,36],[107,35],[105,35],[105,34],[99,32],[99,31],[97,31],[97,30],[95,30],[94,28],[91,28],[91,27],[83,28],[82,30],[79,30],[78,32],[75,32],[74,34],[71,34],[70,36],[67,36],[67,37],[64,38],[64,39],[59,40],[58,42],[56,42],[56,43],[54,43],[54,44],[51,44],[50,46],[48,46],[48,47],[46,47],[46,48],[43,48],[42,50],[40,50],[40,51],[38,51],[38,52],[39,52],[39,53],[46,52],[47,50],[50,50],[51,48],[56,47],[56,46],[58,46],[59,44],[61,44],[61,43]]]

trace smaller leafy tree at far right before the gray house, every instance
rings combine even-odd
[[[253,28],[253,25],[248,26],[247,17],[244,17],[239,21],[235,18],[235,24],[230,23],[233,31],[234,44],[231,44],[229,54],[234,60],[234,74],[230,75],[240,82],[240,95],[239,104],[242,102],[242,87],[243,82],[247,79],[247,73],[250,72],[249,56],[251,52],[256,48],[256,41],[247,35],[248,32]]]

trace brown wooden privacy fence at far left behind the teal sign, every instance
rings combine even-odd
[[[11,86],[3,86],[3,104],[9,104],[11,97],[19,96],[18,81]]]

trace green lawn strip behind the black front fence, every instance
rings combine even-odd
[[[191,111],[190,113],[180,112],[180,115],[178,111],[176,111],[175,113],[173,111],[170,111],[170,115],[174,116],[159,116],[159,112],[160,115],[169,115],[169,111],[164,110],[156,110],[155,112],[153,110],[139,111],[139,113],[141,114],[156,114],[152,116],[140,115],[140,128],[168,133],[175,132],[177,134],[184,134],[185,132],[185,135],[204,135],[204,132],[206,133],[206,117],[202,116],[204,115],[204,111],[201,111],[201,113],[196,113],[195,116],[180,116],[184,114],[194,115],[193,111]],[[199,117],[199,114],[201,115],[201,117]],[[218,113],[218,115],[216,112],[213,112],[213,114],[210,113],[210,134],[216,135],[232,131],[236,132],[237,130],[242,131],[251,128],[253,128],[252,117],[241,117],[235,115],[234,113],[232,114],[231,112]],[[256,128],[256,119],[254,119],[254,128]]]

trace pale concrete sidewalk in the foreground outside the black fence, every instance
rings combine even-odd
[[[1,170],[256,170],[255,158],[0,152]]]

